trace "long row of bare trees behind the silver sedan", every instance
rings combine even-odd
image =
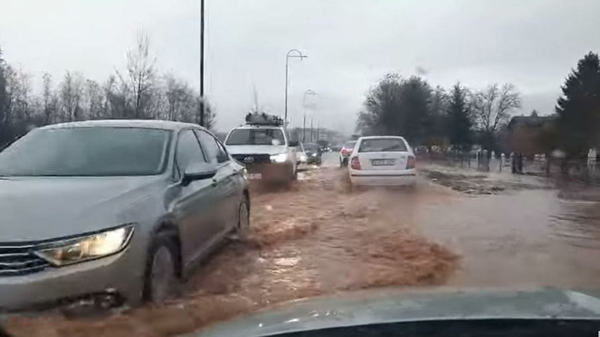
[[[41,90],[32,76],[2,59],[0,49],[0,145],[31,128],[85,119],[167,119],[200,122],[201,99],[183,79],[161,73],[150,53],[150,38],[140,32],[128,50],[125,71],[104,82],[66,71],[61,79],[44,73]],[[214,126],[215,112],[205,103],[205,125]]]

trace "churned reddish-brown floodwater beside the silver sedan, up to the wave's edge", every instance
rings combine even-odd
[[[441,285],[460,258],[407,225],[417,204],[439,197],[350,192],[343,170],[307,171],[291,189],[252,192],[248,237],[209,258],[184,285],[181,298],[108,317],[43,314],[12,317],[5,324],[16,336],[172,336],[308,296]]]

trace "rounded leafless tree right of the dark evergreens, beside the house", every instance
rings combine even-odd
[[[508,123],[511,111],[521,107],[521,97],[512,83],[496,83],[473,94],[471,103],[479,130],[495,133]]]

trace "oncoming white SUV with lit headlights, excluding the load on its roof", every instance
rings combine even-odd
[[[247,124],[233,128],[225,139],[227,151],[248,169],[250,179],[289,183],[296,179],[296,148],[281,125]]]

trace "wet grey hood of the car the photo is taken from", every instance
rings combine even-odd
[[[407,291],[379,289],[299,300],[209,327],[196,336],[280,333],[419,320],[484,318],[600,319],[600,292],[572,290]]]

